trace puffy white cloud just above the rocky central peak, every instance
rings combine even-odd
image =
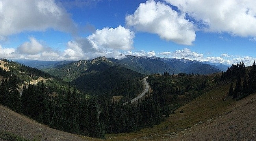
[[[108,27],[97,29],[95,33],[88,36],[88,39],[105,48],[130,50],[134,37],[134,32],[119,25],[115,29]]]

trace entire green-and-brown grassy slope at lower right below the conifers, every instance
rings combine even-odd
[[[109,134],[110,140],[256,140],[256,94],[240,101],[227,97],[230,84],[219,83],[153,128]],[[183,110],[184,113],[179,113]]]

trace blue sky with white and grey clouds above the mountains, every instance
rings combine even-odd
[[[0,0],[0,58],[125,55],[246,66],[256,60],[255,0]]]

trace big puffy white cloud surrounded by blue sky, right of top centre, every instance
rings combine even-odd
[[[194,26],[186,20],[186,14],[178,13],[162,2],[150,0],[141,3],[134,14],[127,15],[125,20],[128,27],[158,34],[164,40],[184,45],[192,45],[195,41]]]

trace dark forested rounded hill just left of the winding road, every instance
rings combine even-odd
[[[118,66],[109,66],[100,63],[90,67],[83,76],[73,82],[84,93],[115,94],[116,96],[135,97],[142,89],[139,81],[144,76],[130,69]]]

